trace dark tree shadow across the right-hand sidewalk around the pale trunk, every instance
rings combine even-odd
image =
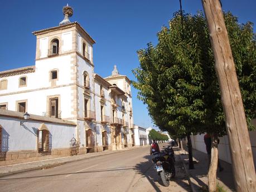
[[[186,147],[185,154],[182,154],[182,157],[184,159],[184,163],[186,168],[189,170],[189,156],[188,156],[188,150]],[[179,150],[179,149],[177,149]],[[196,180],[199,186],[206,186],[207,187],[207,174],[208,174],[208,159],[207,154],[204,152],[198,151],[193,149],[193,158],[195,158],[196,162],[194,161],[194,167],[195,169],[189,170],[191,177]],[[229,189],[235,190],[234,186],[234,179],[233,179],[233,173],[232,173],[232,166],[229,163],[226,163],[225,161],[220,160],[221,166],[224,168],[223,171],[217,170],[217,178],[223,182],[226,186],[228,186]],[[205,179],[206,178],[206,179]],[[204,182],[206,180],[206,183]]]

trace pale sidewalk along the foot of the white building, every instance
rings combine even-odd
[[[146,147],[146,146],[143,146],[143,147]],[[54,166],[62,165],[71,161],[79,161],[83,159],[89,159],[92,157],[115,154],[117,152],[124,152],[124,151],[134,150],[134,149],[138,149],[138,147],[135,146],[129,149],[125,148],[117,151],[93,152],[93,153],[84,154],[84,155],[66,156],[66,157],[59,157],[55,159],[47,159],[47,160],[41,160],[41,161],[32,161],[28,163],[0,166],[0,177],[15,174],[15,173],[21,173],[23,171],[52,168]]]

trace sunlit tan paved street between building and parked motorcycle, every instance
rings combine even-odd
[[[0,191],[190,191],[180,158],[176,178],[162,186],[148,147],[0,178]]]

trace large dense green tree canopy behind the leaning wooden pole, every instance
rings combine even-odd
[[[256,117],[256,41],[253,24],[239,24],[224,14],[248,124]],[[182,33],[183,27],[183,33]],[[140,66],[132,84],[138,99],[161,130],[224,135],[224,113],[204,15],[175,13],[169,28],[157,33],[158,44],[138,51]],[[252,129],[252,126],[250,126]]]

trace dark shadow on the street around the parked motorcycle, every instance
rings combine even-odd
[[[161,191],[159,185],[163,186],[163,183],[160,176],[157,174],[157,171],[153,168],[154,163],[152,162],[152,156],[146,155],[143,158],[147,159],[147,161],[141,162],[135,166],[137,173],[141,174],[143,177],[146,177],[149,183],[153,186],[154,190]],[[176,157],[176,159],[178,158]],[[187,180],[187,177],[181,161],[176,161],[175,169],[176,176],[170,181],[170,187],[179,185],[181,188],[190,191],[190,185],[184,181]]]

